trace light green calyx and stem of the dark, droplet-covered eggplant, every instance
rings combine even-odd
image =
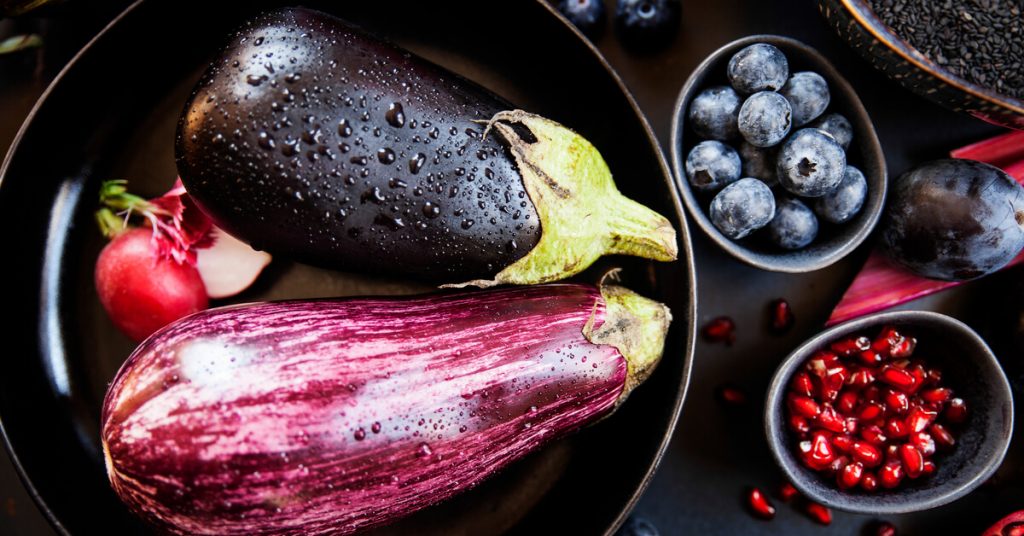
[[[521,110],[499,112],[485,123],[484,136],[494,129],[509,143],[541,219],[541,240],[493,280],[445,287],[558,281],[586,270],[604,254],[676,259],[672,223],[623,196],[601,154],[586,138]],[[526,127],[537,139],[523,139],[510,123]]]

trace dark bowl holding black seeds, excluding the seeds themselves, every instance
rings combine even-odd
[[[864,0],[818,0],[818,8],[841,38],[903,87],[950,110],[1024,130],[1024,100],[943,69],[896,35]]]

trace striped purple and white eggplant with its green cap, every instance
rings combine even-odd
[[[352,533],[608,415],[670,321],[624,288],[575,284],[205,311],[111,384],[108,473],[171,533]]]

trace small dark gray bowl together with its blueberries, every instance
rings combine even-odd
[[[696,68],[676,101],[672,161],[700,229],[763,270],[836,262],[885,204],[885,157],[856,92],[785,37],[733,41]]]

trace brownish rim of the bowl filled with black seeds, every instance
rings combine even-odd
[[[921,71],[938,78],[943,83],[961,91],[965,91],[976,98],[980,98],[1000,108],[1010,110],[1015,114],[1024,116],[1024,99],[998,93],[993,91],[991,88],[961,78],[952,72],[944,69],[942,66],[939,66],[921,52],[921,50],[918,50],[918,48],[911,45],[907,40],[897,35],[896,32],[889,27],[889,25],[882,22],[878,13],[874,12],[874,9],[871,9],[865,0],[839,0],[839,2],[846,8],[853,19],[856,20],[861,28],[870,33],[878,42],[886,45],[887,48],[902,57],[903,60],[914,66],[916,69],[920,69]]]

